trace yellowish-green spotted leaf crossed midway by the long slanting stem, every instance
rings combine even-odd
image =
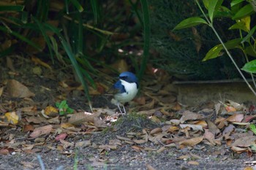
[[[225,42],[225,47],[227,47],[227,50],[229,49],[233,49],[233,48],[240,48],[240,43],[241,43],[241,39],[232,39],[228,42]],[[220,44],[220,45],[216,45],[213,48],[211,48],[211,50],[208,51],[208,53],[206,54],[206,57],[203,58],[203,61],[208,61],[210,59],[213,58],[217,58],[221,55],[220,52],[224,49],[224,47]]]

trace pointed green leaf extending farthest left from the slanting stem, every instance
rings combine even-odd
[[[182,20],[181,23],[178,23],[178,25],[173,28],[173,30],[177,29],[183,29],[183,28],[190,28],[192,26],[197,26],[200,24],[208,24],[206,20],[200,17],[192,17],[192,18],[187,18],[185,20]]]

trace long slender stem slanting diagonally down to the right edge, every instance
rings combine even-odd
[[[241,72],[241,69],[239,69],[238,65],[236,64],[236,61],[234,61],[232,55],[230,54],[230,52],[227,50],[227,47],[225,46],[224,42],[222,42],[222,39],[220,38],[219,34],[217,33],[216,29],[214,28],[213,23],[208,20],[207,15],[205,12],[203,12],[203,9],[201,8],[199,2],[197,0],[195,0],[195,2],[197,3],[197,6],[199,7],[200,11],[203,13],[203,16],[206,18],[206,21],[208,23],[208,26],[211,27],[211,29],[214,31],[214,34],[217,36],[217,38],[219,39],[219,42],[222,44],[223,48],[225,49],[228,57],[230,58],[230,60],[232,61],[232,63],[234,64],[234,66],[236,67],[236,69],[238,70],[239,74],[241,75],[241,77],[244,79],[244,82],[246,82],[246,85],[248,85],[249,89],[252,90],[252,93],[254,93],[254,95],[256,96],[256,92],[255,90],[252,88],[252,86],[249,84],[249,82],[246,80],[246,77],[244,77],[244,74]]]

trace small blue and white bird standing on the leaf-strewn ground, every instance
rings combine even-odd
[[[121,114],[126,114],[124,105],[124,112],[122,112],[120,104],[131,101],[133,98],[135,98],[139,88],[138,78],[131,72],[122,72],[119,75],[118,82],[113,85],[113,88],[116,91],[114,94],[116,105],[118,106]]]

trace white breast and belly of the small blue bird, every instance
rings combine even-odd
[[[114,97],[117,101],[120,102],[128,102],[135,98],[138,93],[137,84],[135,82],[126,82],[121,80],[121,84],[124,85],[124,89],[127,91],[126,93],[117,93]]]

